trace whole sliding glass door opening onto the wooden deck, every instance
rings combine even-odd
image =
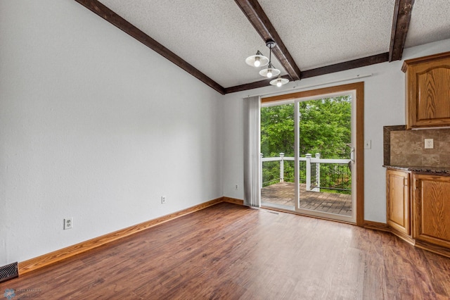
[[[261,108],[262,204],[354,223],[354,91]]]

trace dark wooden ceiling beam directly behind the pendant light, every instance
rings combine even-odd
[[[288,72],[290,80],[300,80],[300,68],[295,64],[294,58],[290,55],[281,37],[276,32],[274,25],[264,13],[262,7],[257,0],[235,0],[241,11],[250,20],[255,30],[264,39],[264,42],[273,40],[276,46],[272,48],[278,61],[280,61],[283,68]],[[250,84],[251,85],[251,84]]]

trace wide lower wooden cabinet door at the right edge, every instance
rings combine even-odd
[[[414,237],[450,247],[450,177],[414,175]]]

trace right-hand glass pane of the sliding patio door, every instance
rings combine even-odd
[[[302,101],[299,208],[352,215],[352,96]]]

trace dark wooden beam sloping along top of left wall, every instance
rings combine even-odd
[[[146,33],[139,30],[139,28],[129,23],[120,15],[117,15],[117,13],[110,10],[110,8],[108,8],[107,6],[101,4],[101,2],[97,0],[75,0],[75,1],[77,1],[79,4],[82,4],[82,6],[88,8],[90,11],[96,13],[101,18],[107,20],[109,23],[115,25],[115,27],[119,28],[123,32],[127,33],[128,35],[131,35],[131,37],[134,37],[142,44],[148,46],[148,48],[164,56],[169,61],[172,61],[172,63],[178,65],[187,73],[193,75],[198,80],[212,87],[212,89],[215,89],[220,94],[225,94],[224,87],[221,87],[221,85],[212,80],[210,77],[207,77],[207,75],[200,72],[200,70],[196,69],[193,65],[184,61],[183,58],[177,56],[172,51],[167,49],[165,46],[155,41],[155,39],[152,39],[151,37],[146,35]]]

